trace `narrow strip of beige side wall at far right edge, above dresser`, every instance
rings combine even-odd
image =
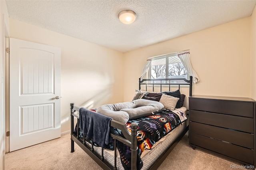
[[[256,100],[256,7],[251,16],[251,98]]]

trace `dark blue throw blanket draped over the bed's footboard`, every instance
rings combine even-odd
[[[85,108],[79,109],[79,125],[86,139],[93,139],[102,148],[112,141],[110,134],[111,117]]]

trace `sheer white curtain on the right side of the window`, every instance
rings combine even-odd
[[[196,74],[196,71],[192,67],[189,54],[190,54],[189,50],[181,51],[178,53],[178,57],[180,58],[180,61],[183,64],[183,66],[185,67],[186,71],[188,71],[188,74],[192,75],[193,82],[198,83],[199,77]]]

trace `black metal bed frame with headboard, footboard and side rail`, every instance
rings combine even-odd
[[[157,83],[154,83],[156,82]],[[159,83],[160,81],[160,83]],[[184,81],[184,83],[171,83],[171,81]],[[184,79],[184,78],[172,78],[172,79],[139,79],[139,89],[141,89],[141,85],[146,85],[146,89],[148,85],[152,85],[153,91],[154,91],[154,85],[160,85],[160,89],[162,91],[162,85],[168,85],[169,91],[171,85],[178,85],[180,89],[180,85],[189,85],[190,92],[189,95],[192,95],[192,76],[190,76],[190,80]],[[131,124],[131,133],[126,128],[125,123],[120,123],[118,121],[112,120],[110,122],[110,126],[114,128],[118,128],[122,131],[122,134],[124,137],[119,136],[115,133],[110,133],[110,135],[114,138],[114,167],[109,164],[106,160],[104,160],[104,153],[103,148],[101,148],[101,155],[94,152],[94,141],[92,140],[91,146],[86,144],[85,136],[83,139],[79,137],[79,121],[77,121],[77,134],[74,133],[74,117],[79,119],[79,115],[75,114],[75,111],[79,112],[80,107],[74,106],[74,103],[70,103],[70,116],[71,116],[71,152],[74,152],[74,142],[80,146],[101,168],[104,170],[116,170],[116,140],[126,144],[127,146],[130,146],[131,148],[131,154],[132,154],[132,160],[131,160],[131,169],[136,170],[136,160],[137,160],[137,124],[132,123]],[[157,169],[160,164],[165,160],[165,158],[170,154],[172,149],[176,146],[176,144],[180,141],[180,139],[186,134],[188,131],[188,127],[176,138],[174,143],[166,150],[160,158],[151,166],[150,170]]]

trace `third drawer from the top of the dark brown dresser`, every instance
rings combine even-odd
[[[214,127],[202,123],[190,122],[190,133],[223,140],[246,148],[254,148],[253,134],[230,130],[226,128]]]

